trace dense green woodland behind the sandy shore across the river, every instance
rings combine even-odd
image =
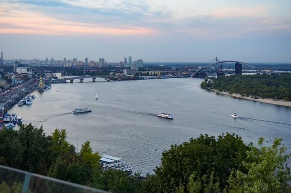
[[[263,75],[230,75],[207,79],[201,87],[241,96],[291,100],[291,73]]]

